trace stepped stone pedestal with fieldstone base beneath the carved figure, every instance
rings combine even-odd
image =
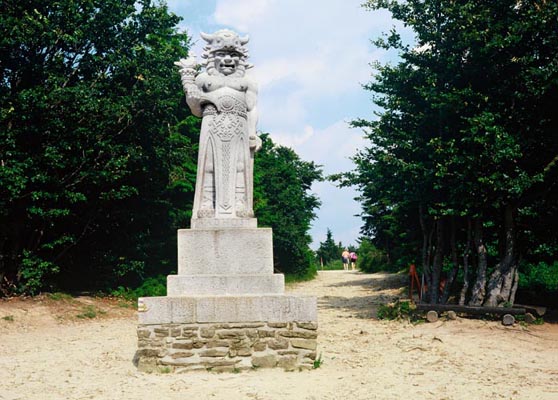
[[[272,232],[255,218],[193,220],[178,231],[166,297],[138,300],[138,368],[146,371],[311,368],[316,298],[284,294]]]

